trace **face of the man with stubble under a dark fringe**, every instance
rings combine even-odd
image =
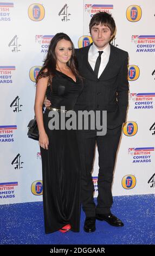
[[[112,38],[111,30],[106,25],[94,25],[91,29],[94,44],[99,50],[103,50]]]

